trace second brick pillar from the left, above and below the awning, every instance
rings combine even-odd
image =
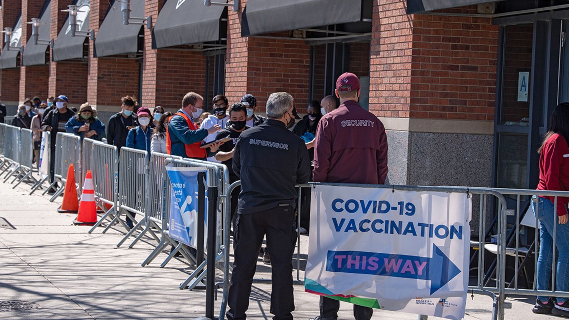
[[[44,0],[22,0],[22,46],[26,46],[28,39],[31,38],[32,27],[26,22],[32,18],[38,18],[44,5]],[[39,96],[40,99],[46,100],[48,90],[49,67],[31,66],[20,67],[20,89],[19,101],[26,98]]]

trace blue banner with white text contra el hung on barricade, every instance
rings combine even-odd
[[[168,234],[176,241],[197,248],[197,174],[207,173],[207,169],[167,166],[166,170],[172,187]],[[207,199],[205,210],[207,212]],[[207,243],[207,215],[205,219],[204,243]]]

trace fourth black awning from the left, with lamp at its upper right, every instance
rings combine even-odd
[[[131,17],[144,17],[144,0],[130,0]],[[138,51],[140,24],[122,23],[121,2],[114,1],[99,28],[94,42],[96,57],[130,54]]]

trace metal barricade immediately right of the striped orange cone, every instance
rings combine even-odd
[[[105,220],[109,220],[108,225],[102,231],[105,233],[116,222],[121,223],[126,228],[125,223],[118,219],[117,210],[117,183],[118,183],[118,149],[116,146],[95,141],[92,143],[91,172],[93,175],[93,186],[95,189],[95,200],[104,214],[89,229],[93,232]]]

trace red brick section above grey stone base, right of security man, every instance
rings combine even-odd
[[[403,2],[390,0],[374,1],[373,23],[373,113],[493,121],[498,26],[490,19],[407,15]]]

